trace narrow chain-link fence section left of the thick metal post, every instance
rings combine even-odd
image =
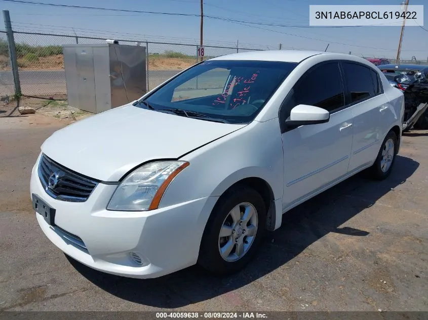
[[[8,38],[5,31],[0,30],[0,98],[13,96],[15,87],[9,56]]]

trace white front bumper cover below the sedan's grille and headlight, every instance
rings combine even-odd
[[[130,278],[155,278],[193,265],[209,214],[217,197],[206,197],[142,212],[105,209],[116,186],[98,184],[86,202],[51,198],[31,173],[30,194],[56,209],[55,226],[36,213],[45,235],[64,253],[94,269]],[[58,228],[59,227],[59,228]],[[84,246],[70,241],[79,237]],[[140,256],[139,265],[131,252]]]

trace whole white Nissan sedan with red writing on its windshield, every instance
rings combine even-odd
[[[210,59],[52,134],[32,170],[35,216],[104,272],[236,272],[291,208],[363,169],[387,177],[403,115],[400,90],[352,55]]]

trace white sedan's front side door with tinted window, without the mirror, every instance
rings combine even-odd
[[[293,107],[304,104],[326,109],[326,123],[287,128]],[[353,115],[344,106],[338,62],[310,68],[294,85],[280,111],[284,152],[283,211],[314,196],[346,175],[353,141]]]

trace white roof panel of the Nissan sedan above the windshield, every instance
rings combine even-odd
[[[322,51],[303,51],[303,50],[266,50],[250,51],[236,54],[230,54],[212,58],[210,60],[257,60],[257,61],[281,61],[281,62],[301,62],[306,58],[316,55],[328,55]],[[347,56],[347,55],[346,55]]]

